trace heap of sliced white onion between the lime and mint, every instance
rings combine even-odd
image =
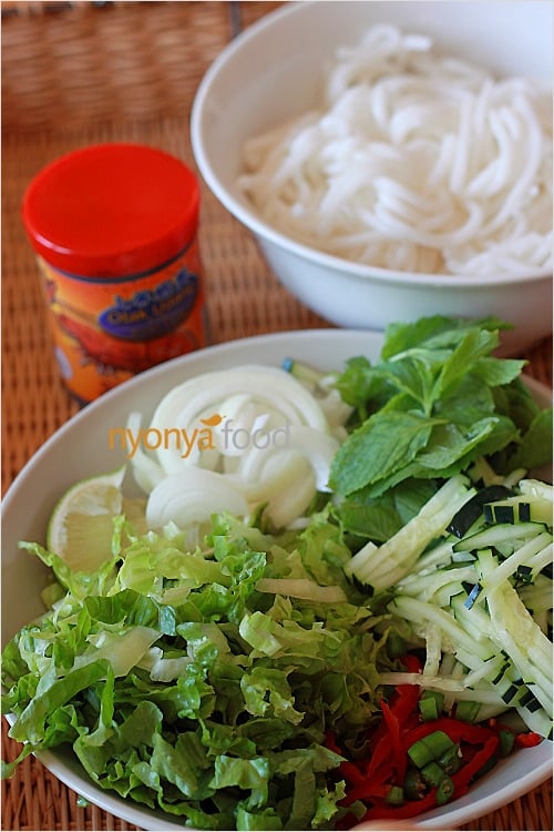
[[[141,429],[136,413],[127,423],[148,527],[173,521],[199,535],[214,513],[247,517],[265,503],[277,527],[294,524],[328,490],[341,440],[334,434],[349,413],[336,390],[318,399],[276,367],[243,365],[174,387],[150,427]]]

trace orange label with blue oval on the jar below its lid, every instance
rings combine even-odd
[[[171,264],[131,280],[90,281],[38,260],[58,364],[80,400],[205,346],[197,241]]]

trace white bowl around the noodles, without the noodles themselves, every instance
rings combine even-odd
[[[268,225],[237,186],[245,141],[318,102],[335,47],[356,43],[376,22],[429,33],[443,49],[500,74],[552,84],[552,3],[286,3],[236,38],[204,77],[191,130],[198,169],[223,205],[257,240],[269,266],[302,303],[346,327],[383,329],[430,314],[495,314],[515,331],[505,352],[552,332],[552,274],[460,277],[373,268],[297,243]]]

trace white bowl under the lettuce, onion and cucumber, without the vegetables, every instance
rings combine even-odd
[[[2,645],[43,609],[39,599],[47,569],[19,540],[44,542],[48,518],[61,494],[84,477],[112,470],[124,461],[124,451],[110,449],[109,432],[125,425],[130,410],[148,418],[161,397],[179,382],[211,369],[244,363],[279,366],[286,356],[298,357],[320,369],[340,369],[353,355],[379,356],[382,338],[371,332],[315,329],[279,333],[191,353],[147,371],[106,393],[71,418],[27,464],[9,489],[2,508]],[[547,406],[551,394],[529,381],[537,400]],[[144,830],[182,830],[174,816],[125,801],[92,783],[72,752],[48,751],[40,760],[62,782],[90,802]],[[552,744],[543,742],[504,760],[472,788],[470,794],[428,812],[418,828],[456,828],[509,803],[551,775]]]

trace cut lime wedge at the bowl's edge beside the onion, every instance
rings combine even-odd
[[[125,466],[82,479],[57,504],[47,530],[47,547],[74,571],[93,572],[112,554],[113,518],[121,514]]]

